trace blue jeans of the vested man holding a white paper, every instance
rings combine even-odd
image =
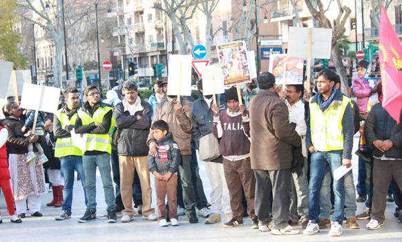
[[[321,183],[325,174],[325,167],[329,165],[331,173],[342,165],[342,150],[329,152],[313,152],[310,164],[310,183],[309,183],[309,219],[318,220],[320,215],[320,190]],[[343,186],[344,177],[334,181],[333,189],[335,195],[335,210],[332,221],[342,224],[343,207],[345,205],[345,188]]]

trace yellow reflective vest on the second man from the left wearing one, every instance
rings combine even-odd
[[[111,111],[111,107],[99,107],[93,113],[93,116],[82,109],[78,111],[78,117],[82,120],[82,125],[88,125],[90,123],[102,123],[104,116],[107,112]],[[107,134],[88,134],[88,138],[86,139],[86,151],[104,151],[111,154],[112,152],[112,145],[111,145],[111,132],[113,130],[113,126],[115,125],[115,119],[112,117],[111,127],[108,130]]]

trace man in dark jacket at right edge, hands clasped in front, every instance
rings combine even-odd
[[[367,116],[364,134],[374,149],[372,217],[365,227],[376,230],[384,226],[385,197],[392,178],[402,187],[402,119],[397,125],[382,103],[377,103]]]

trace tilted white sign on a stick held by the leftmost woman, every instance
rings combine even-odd
[[[59,97],[60,88],[25,83],[22,90],[21,108],[55,113],[57,105],[59,105]]]

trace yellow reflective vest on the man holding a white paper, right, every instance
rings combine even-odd
[[[350,98],[343,96],[342,101],[334,101],[324,112],[318,103],[309,103],[310,132],[312,143],[318,151],[343,150],[342,119]]]

